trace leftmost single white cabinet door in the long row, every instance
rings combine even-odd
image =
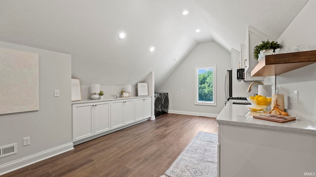
[[[73,142],[93,135],[91,103],[73,105]]]

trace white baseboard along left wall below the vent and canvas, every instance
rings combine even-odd
[[[26,167],[28,165],[34,164],[36,162],[45,160],[47,158],[53,157],[55,155],[64,153],[66,151],[74,149],[73,143],[68,143],[56,148],[51,148],[27,157],[23,157],[18,160],[14,160],[12,162],[8,162],[5,164],[0,165],[0,176],[9,172],[12,172],[14,170]]]

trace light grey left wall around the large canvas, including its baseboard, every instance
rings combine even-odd
[[[0,47],[39,54],[40,110],[0,115],[0,146],[17,143],[17,154],[0,158],[0,175],[73,148],[71,56],[0,41]],[[54,97],[54,89],[60,97]],[[23,147],[24,137],[31,144]]]

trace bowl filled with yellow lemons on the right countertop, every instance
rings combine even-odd
[[[249,111],[263,112],[265,109],[271,106],[272,98],[262,95],[256,95],[247,97],[247,100],[251,103],[251,106],[246,106]]]

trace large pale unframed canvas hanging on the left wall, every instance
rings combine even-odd
[[[0,114],[39,110],[39,55],[0,48]]]

